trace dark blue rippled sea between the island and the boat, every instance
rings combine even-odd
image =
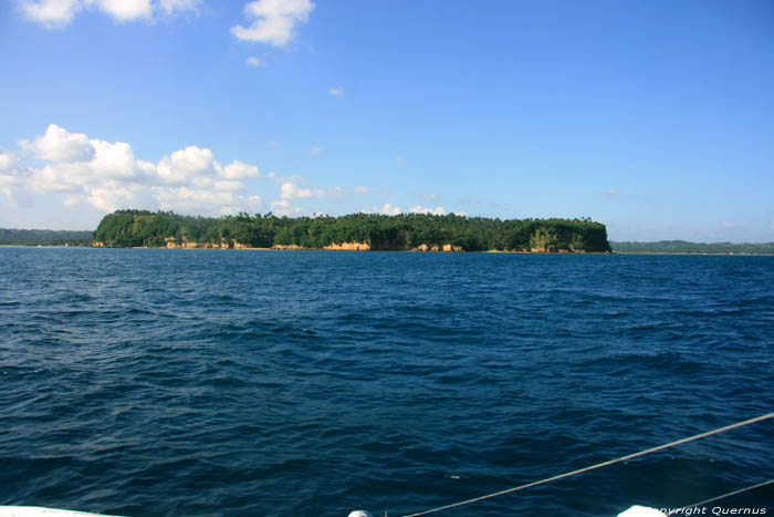
[[[398,516],[768,413],[773,352],[774,257],[2,248],[0,504]],[[772,477],[767,421],[438,515]]]

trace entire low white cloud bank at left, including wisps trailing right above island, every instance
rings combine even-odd
[[[234,159],[221,165],[206,147],[187,146],[156,162],[135,156],[128,143],[88,138],[51,124],[29,141],[20,141],[18,157],[0,152],[0,203],[15,208],[32,206],[39,196],[57,198],[64,207],[84,211],[119,208],[175,210],[218,216],[254,213],[271,207],[279,215],[300,215],[318,209],[326,198],[337,203],[345,196],[374,192],[364,186],[307,186],[301,176],[261,173],[258,166]],[[266,187],[279,195],[265,201],[252,195],[250,182],[271,178]],[[270,198],[271,199],[271,198]],[[375,208],[400,214],[400,207]]]

